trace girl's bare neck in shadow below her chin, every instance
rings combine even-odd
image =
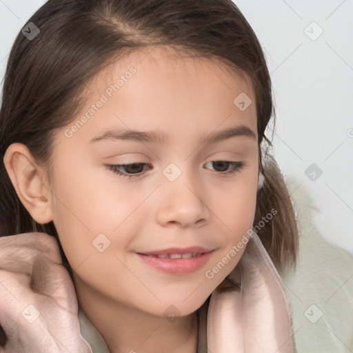
[[[81,308],[110,353],[196,353],[196,312],[170,321],[101,296],[74,277]]]

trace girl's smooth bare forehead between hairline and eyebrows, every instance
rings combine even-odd
[[[247,123],[256,132],[254,93],[245,74],[216,59],[165,46],[126,54],[97,74],[83,94],[88,103],[106,98],[90,119],[92,132],[102,125],[144,130],[153,125],[191,135],[196,128],[202,134],[236,123]],[[252,103],[241,110],[236,104],[244,97]]]

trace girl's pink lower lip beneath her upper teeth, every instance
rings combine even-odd
[[[143,254],[137,254],[137,256],[148,265],[157,268],[157,270],[174,274],[186,274],[202,268],[208,259],[210,259],[212,253],[213,250],[203,252],[203,254],[192,257],[191,259],[161,259],[159,257]]]

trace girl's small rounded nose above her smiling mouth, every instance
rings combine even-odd
[[[159,192],[162,194],[156,216],[160,225],[199,227],[209,221],[210,208],[205,203],[205,190],[191,172],[184,171],[175,181],[163,180]]]

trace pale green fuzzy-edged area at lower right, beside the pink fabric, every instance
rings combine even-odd
[[[301,184],[286,182],[290,190]],[[279,274],[292,301],[296,348],[298,353],[353,352],[353,256],[319,234],[312,219],[320,208],[303,185],[292,199],[301,227],[299,265],[296,273]]]

